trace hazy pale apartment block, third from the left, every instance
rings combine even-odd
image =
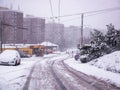
[[[59,23],[47,23],[45,29],[45,40],[58,44],[59,48],[64,48],[64,25]]]

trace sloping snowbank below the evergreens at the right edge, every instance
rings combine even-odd
[[[89,62],[89,64],[107,71],[120,73],[120,51],[104,55],[98,59]]]

